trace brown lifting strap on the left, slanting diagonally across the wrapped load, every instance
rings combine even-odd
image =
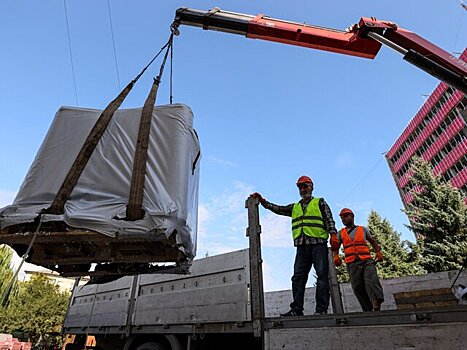
[[[157,55],[143,68],[143,70],[120,92],[120,94],[108,104],[108,106],[104,109],[101,113],[99,119],[97,120],[96,124],[92,128],[91,132],[89,133],[86,141],[84,142],[83,147],[78,153],[73,165],[71,166],[70,170],[68,171],[65,180],[63,181],[60,190],[57,192],[52,204],[49,208],[45,209],[42,213],[47,214],[56,214],[60,215],[64,213],[64,206],[68,198],[70,197],[71,192],[73,191],[76,183],[81,176],[84,168],[86,167],[89,158],[91,157],[94,149],[96,148],[99,140],[101,139],[102,135],[107,128],[110,120],[113,117],[115,111],[121,106],[123,101],[125,100],[126,96],[129,94],[135,83],[139,80],[139,78],[143,75],[143,73],[148,69],[148,67],[154,62],[154,60],[161,54],[161,52],[172,46],[173,41],[173,34],[170,35],[168,42],[160,49]],[[167,53],[166,53],[167,57]],[[165,60],[164,60],[165,63]],[[151,89],[152,91],[152,89]],[[156,88],[157,91],[157,88]],[[152,113],[152,111],[151,111]]]

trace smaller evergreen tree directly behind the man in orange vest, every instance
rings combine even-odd
[[[376,211],[372,210],[368,216],[367,227],[384,254],[384,261],[377,264],[379,277],[395,278],[419,275],[424,272],[420,266],[420,246],[409,241],[401,241],[400,234],[394,230],[387,219],[382,219]],[[341,255],[341,258],[344,261],[344,255]],[[337,268],[337,275],[339,282],[349,281],[344,265]]]

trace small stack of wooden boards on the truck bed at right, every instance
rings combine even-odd
[[[457,305],[450,288],[394,293],[398,309],[421,309]]]

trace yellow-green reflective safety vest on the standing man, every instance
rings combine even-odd
[[[319,209],[320,198],[313,198],[303,213],[302,205],[295,203],[292,209],[293,239],[303,233],[310,237],[328,239],[328,232],[324,229],[323,215]]]

